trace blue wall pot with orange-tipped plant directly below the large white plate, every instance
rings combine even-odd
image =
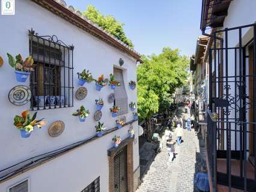
[[[37,120],[36,117],[37,112],[31,118],[28,110],[23,111],[21,116],[16,115],[14,117],[14,125],[20,130],[21,137],[29,137],[35,126],[41,128],[42,125],[46,125],[46,122],[42,121],[43,119]]]

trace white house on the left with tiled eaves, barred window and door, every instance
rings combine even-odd
[[[0,23],[0,56],[4,61],[0,68],[0,191],[17,191],[19,187],[30,192],[135,190],[139,181],[138,121],[128,104],[136,103],[136,88],[130,89],[129,82],[136,82],[139,54],[75,13],[64,1],[16,1],[15,15],[0,16]],[[40,58],[44,55],[40,50],[46,54],[46,49],[48,59]],[[23,58],[33,55],[37,65],[34,77],[17,82],[7,53],[20,53]],[[79,100],[77,73],[84,68],[94,79],[102,74],[109,78],[114,73],[121,86],[115,91],[109,85],[96,91],[95,82],[85,83],[87,95],[84,93],[86,97]],[[42,76],[45,79],[40,88]],[[28,87],[32,94],[31,100],[20,106],[8,99],[10,90],[18,85]],[[108,101],[111,93],[115,94],[113,103]],[[65,104],[53,104],[53,109],[49,109],[49,103],[38,106],[36,98],[41,95],[44,100],[47,95],[55,95],[55,104],[63,97]],[[102,137],[96,136],[94,119],[99,97],[105,101],[100,119],[106,127]],[[114,103],[121,105],[121,114],[115,118],[109,110]],[[80,106],[90,110],[85,122],[72,116]],[[37,119],[47,121],[28,138],[20,137],[13,125],[14,116],[24,110],[37,112]],[[119,118],[126,121],[121,129],[115,122]],[[65,128],[58,137],[51,137],[48,129],[55,121],[64,122]],[[131,126],[135,131],[132,138],[128,133]],[[118,148],[113,148],[115,135],[122,140]]]

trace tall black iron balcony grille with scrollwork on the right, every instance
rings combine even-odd
[[[255,23],[213,33],[207,152],[214,191],[217,184],[256,191],[255,37]]]

